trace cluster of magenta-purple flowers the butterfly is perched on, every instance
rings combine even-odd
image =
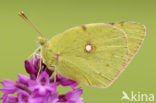
[[[41,72],[37,77],[40,66]],[[84,103],[80,97],[82,89],[76,89],[78,83],[59,74],[51,78],[54,71],[48,69],[37,56],[31,61],[25,61],[25,69],[30,77],[18,74],[15,83],[8,79],[0,81],[3,85],[0,89],[3,92],[0,100],[3,103]],[[59,85],[70,86],[72,90],[60,95],[57,90]]]

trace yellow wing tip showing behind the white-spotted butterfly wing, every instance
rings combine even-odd
[[[114,22],[110,24],[125,31],[128,38],[128,62],[130,62],[143,43],[146,35],[145,26],[136,22]]]

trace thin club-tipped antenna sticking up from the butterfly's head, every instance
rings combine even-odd
[[[41,37],[43,37],[39,29],[30,21],[30,19],[24,14],[23,11],[19,12],[18,15],[22,17],[28,24],[30,24],[35,29],[35,31],[37,31],[40,34]]]

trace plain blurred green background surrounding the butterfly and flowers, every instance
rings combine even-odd
[[[24,60],[38,47],[38,34],[17,15],[19,11],[24,11],[48,39],[81,24],[145,24],[143,46],[124,73],[105,89],[82,86],[82,97],[87,103],[120,103],[122,91],[156,95],[156,1],[0,0],[0,78],[14,81],[17,74],[26,74]]]

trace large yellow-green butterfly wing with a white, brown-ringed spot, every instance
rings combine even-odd
[[[53,37],[43,48],[47,65],[81,84],[107,87],[127,63],[127,38],[107,24],[86,24]]]

